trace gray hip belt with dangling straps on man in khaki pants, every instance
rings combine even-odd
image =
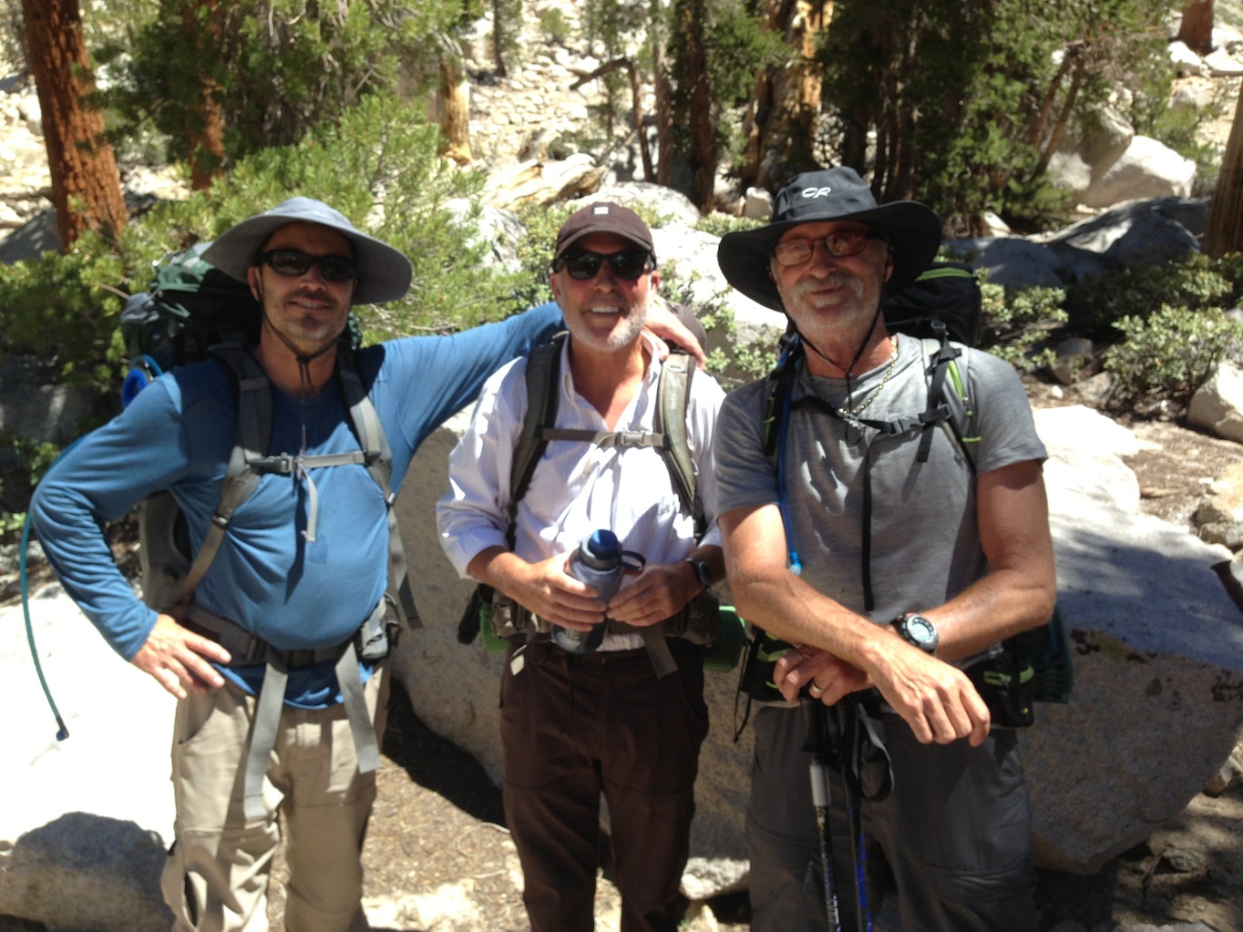
[[[397,625],[388,623],[388,606],[384,599],[380,599],[352,637],[332,647],[321,647],[319,650],[278,650],[262,637],[244,630],[237,623],[214,615],[193,603],[186,609],[185,623],[191,630],[225,647],[232,655],[229,666],[265,665],[264,685],[256,697],[254,727],[250,732],[250,744],[246,748],[244,815],[247,819],[260,819],[266,811],[264,775],[267,772],[272,748],[276,747],[276,733],[281,723],[281,711],[285,707],[285,686],[288,682],[291,670],[300,670],[328,660],[337,661],[333,672],[337,675],[337,688],[341,690],[346,717],[349,720],[349,733],[354,739],[354,752],[358,756],[358,772],[370,773],[379,767],[379,739],[367,710],[367,697],[363,695],[358,660],[359,657],[365,660],[387,657],[395,640],[398,629]]]

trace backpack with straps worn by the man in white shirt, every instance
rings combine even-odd
[[[661,365],[660,380],[656,384],[653,432],[569,430],[556,426],[561,396],[561,357],[566,337],[566,333],[558,333],[549,343],[536,347],[527,360],[527,410],[515,442],[510,470],[510,498],[506,507],[507,546],[512,549],[515,543],[515,519],[518,505],[531,486],[531,478],[544,450],[554,440],[588,442],[599,446],[655,447],[669,470],[674,491],[677,493],[682,508],[695,519],[696,537],[701,537],[707,522],[699,500],[695,464],[686,434],[686,410],[690,399],[690,381],[695,374],[695,358],[682,352],[674,352]],[[496,651],[503,649],[505,640],[508,637],[522,634],[534,636],[534,631],[527,630],[526,624],[517,618],[522,613],[501,610],[493,604],[493,596],[491,587],[480,584],[475,588],[457,625],[459,642],[470,644],[476,635],[482,633],[485,646]],[[664,635],[674,634],[699,644],[717,644],[718,651],[712,652],[712,656],[705,661],[705,666],[716,670],[732,669],[741,649],[741,639],[732,637],[736,633],[735,629],[741,634],[741,623],[736,620],[736,615],[732,614],[732,610],[721,609],[709,593],[702,593],[692,599],[687,609],[684,613],[687,616],[685,630],[663,630],[661,626],[656,625],[641,629],[640,633],[645,635],[644,640],[649,654],[660,651],[667,655]],[[648,633],[660,634],[659,644],[654,639],[649,639]],[[731,646],[732,662],[728,657]],[[661,647],[664,647],[663,651]],[[654,655],[653,661],[659,674],[664,669],[663,660],[658,660]]]

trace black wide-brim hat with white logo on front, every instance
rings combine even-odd
[[[773,247],[782,234],[799,224],[854,220],[883,235],[894,256],[888,295],[901,291],[929,267],[941,247],[941,219],[915,200],[876,204],[871,189],[850,168],[796,175],[777,193],[772,222],[721,237],[716,261],[725,280],[752,301],[784,311],[769,275]]]

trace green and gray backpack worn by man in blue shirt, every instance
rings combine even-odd
[[[271,385],[246,349],[257,342],[261,307],[249,285],[203,261],[201,255],[210,245],[198,244],[157,263],[150,290],[133,295],[121,313],[122,337],[131,360],[122,384],[123,405],[162,373],[200,359],[214,359],[225,369],[237,400],[237,427],[220,505],[199,553],[191,557],[185,517],[172,495],[157,492],[138,506],[143,600],[159,610],[189,599],[224,543],[232,514],[255,492],[260,476],[291,475],[295,468],[292,457],[267,455],[272,432]],[[357,462],[367,467],[388,503],[385,603],[398,619],[418,626],[394,513],[395,497],[389,488],[392,455],[379,416],[354,369],[358,326],[353,313],[348,332],[349,339],[338,348],[336,378],[362,449],[351,455],[303,457],[303,466]],[[313,521],[308,533],[313,539]]]

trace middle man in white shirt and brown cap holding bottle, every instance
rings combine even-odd
[[[633,211],[592,204],[564,222],[549,276],[571,333],[552,386],[559,431],[654,432],[661,367],[674,364],[661,363],[641,333],[659,282],[651,234]],[[677,628],[689,603],[722,575],[711,450],[723,393],[704,374],[690,380],[686,435],[707,523],[702,539],[659,449],[554,437],[513,511],[507,543],[526,370],[518,360],[485,385],[436,509],[441,546],[459,573],[492,587],[493,601],[516,603],[520,630],[528,631],[511,640],[501,680],[505,813],[522,861],[523,901],[533,932],[594,927],[603,794],[622,931],[675,930],[707,733],[704,649],[644,637],[644,630]],[[600,529],[646,560],[607,603],[571,567],[579,543]],[[589,652],[547,635],[552,626],[602,624],[608,633]],[[676,670],[658,675],[665,647]]]

